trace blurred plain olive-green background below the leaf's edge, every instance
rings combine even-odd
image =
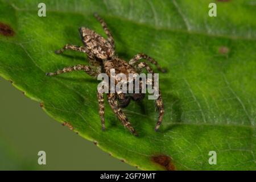
[[[0,170],[136,170],[50,118],[0,77]],[[46,165],[38,151],[46,151]]]

